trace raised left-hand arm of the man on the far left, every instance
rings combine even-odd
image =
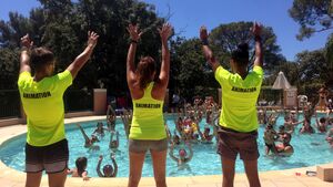
[[[21,38],[21,58],[20,58],[20,73],[31,72],[30,69],[30,49],[32,48],[33,42],[30,40],[29,34]]]

